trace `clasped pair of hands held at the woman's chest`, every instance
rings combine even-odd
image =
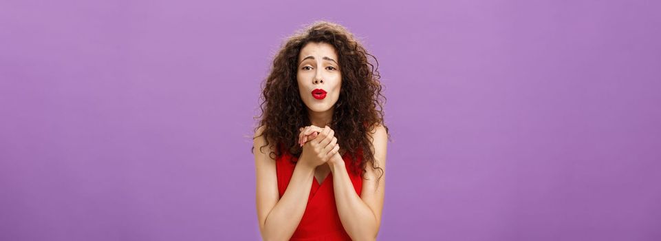
[[[299,145],[303,147],[303,153],[299,160],[310,167],[317,167],[328,163],[343,164],[342,157],[338,153],[340,145],[337,143],[335,132],[327,125],[323,128],[310,125],[299,129]]]

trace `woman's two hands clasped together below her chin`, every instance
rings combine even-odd
[[[321,132],[317,132],[320,130]],[[303,144],[303,153],[299,158],[299,160],[303,160],[305,165],[312,168],[323,165],[340,150],[340,146],[337,144],[337,138],[334,136],[335,132],[330,127],[325,126],[323,129],[320,129],[319,127],[310,126],[305,128],[304,131],[301,134],[307,137],[305,134],[310,133],[311,138],[311,140]],[[318,134],[312,134],[312,132]]]

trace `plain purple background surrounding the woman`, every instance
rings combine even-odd
[[[259,240],[285,36],[345,25],[391,128],[379,240],[661,240],[658,1],[0,1],[0,240]]]

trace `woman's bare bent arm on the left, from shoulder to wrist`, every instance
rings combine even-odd
[[[261,135],[260,127],[255,136]],[[310,196],[314,169],[296,165],[282,198],[279,198],[275,160],[269,150],[262,152],[263,136],[254,138],[254,165],[257,174],[257,219],[263,240],[289,240],[299,226]],[[272,148],[272,147],[270,147]],[[300,161],[300,160],[299,160]]]

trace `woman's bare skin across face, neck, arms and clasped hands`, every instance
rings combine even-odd
[[[340,221],[351,239],[376,240],[383,209],[387,133],[380,125],[369,133],[373,138],[376,164],[384,173],[377,183],[378,172],[367,165],[366,179],[358,196],[340,155],[334,130],[326,125],[332,120],[340,93],[341,74],[337,59],[335,49],[327,43],[308,43],[299,54],[296,80],[312,125],[299,129],[303,152],[282,198],[278,193],[275,161],[268,156],[268,151],[255,151],[257,216],[263,240],[289,240],[303,218],[312,182],[321,182],[329,174],[333,175]],[[317,100],[311,94],[318,88],[327,92],[323,100]],[[259,136],[263,129],[260,127],[255,136]],[[255,149],[264,143],[263,136],[254,138]]]

